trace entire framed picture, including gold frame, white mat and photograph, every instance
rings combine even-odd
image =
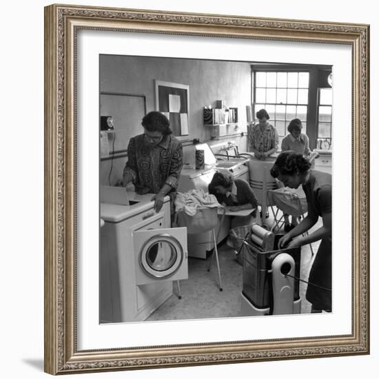
[[[368,354],[369,25],[45,30],[45,371]]]

